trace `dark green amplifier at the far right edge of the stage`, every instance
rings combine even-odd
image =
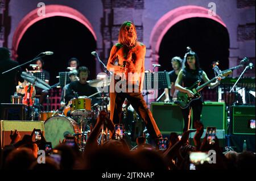
[[[255,106],[232,107],[232,133],[255,135]]]

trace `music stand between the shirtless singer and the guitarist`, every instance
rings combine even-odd
[[[143,90],[147,91],[148,89],[155,88],[155,83],[158,83],[158,87],[157,87],[158,89],[165,89],[165,88],[171,89],[170,76],[167,71],[145,73]],[[148,100],[147,100],[147,102],[148,102]]]

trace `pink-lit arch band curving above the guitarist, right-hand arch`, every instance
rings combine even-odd
[[[150,35],[150,47],[151,47],[151,62],[153,64],[158,62],[159,58],[159,48],[161,41],[166,34],[166,32],[174,26],[177,22],[188,18],[209,18],[212,19],[224,26],[226,28],[225,23],[222,21],[220,16],[210,16],[208,14],[208,9],[200,6],[182,6],[178,7],[174,10],[167,12],[167,14],[163,15],[162,18],[158,20],[155,24],[151,35]]]

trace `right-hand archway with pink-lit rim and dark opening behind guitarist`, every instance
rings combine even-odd
[[[209,78],[214,74],[212,61],[221,61],[222,70],[228,68],[228,30],[220,16],[209,15],[204,7],[182,6],[158,20],[150,35],[151,61],[162,65],[160,71],[170,71],[171,58],[183,58],[187,46],[199,54],[201,67]],[[209,92],[205,98],[215,100],[216,92]]]

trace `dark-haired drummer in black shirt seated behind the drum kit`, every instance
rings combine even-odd
[[[78,96],[90,96],[98,92],[95,87],[91,87],[87,83],[89,70],[86,66],[80,66],[77,73],[79,81],[74,81],[69,84],[67,94],[65,95],[66,102],[69,102],[69,100]],[[100,96],[100,93],[92,96],[92,105],[98,102],[96,98]]]

